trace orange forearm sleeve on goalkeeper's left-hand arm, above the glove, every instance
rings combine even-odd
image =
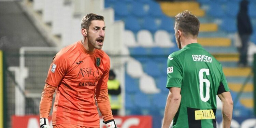
[[[52,108],[53,94],[56,88],[57,87],[48,85],[47,83],[45,84],[39,106],[40,118],[49,117]]]

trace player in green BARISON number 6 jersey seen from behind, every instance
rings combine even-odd
[[[162,128],[216,128],[216,95],[222,100],[223,126],[229,128],[233,101],[221,64],[197,43],[199,20],[190,11],[175,16],[181,49],[167,61],[167,97]]]

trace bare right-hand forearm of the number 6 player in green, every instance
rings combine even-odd
[[[230,128],[233,112],[233,101],[229,91],[218,95],[222,101],[223,128]]]

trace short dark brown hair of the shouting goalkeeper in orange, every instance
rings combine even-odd
[[[82,18],[81,28],[88,29],[89,26],[91,25],[92,20],[103,20],[104,21],[104,17],[100,16],[100,15],[93,14],[93,13],[89,13]]]

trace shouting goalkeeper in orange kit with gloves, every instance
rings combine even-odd
[[[99,128],[95,102],[106,127],[116,128],[107,85],[110,58],[101,50],[104,17],[87,14],[81,26],[82,40],[61,49],[50,65],[40,102],[41,128],[49,128],[48,116],[55,91],[53,128]]]

